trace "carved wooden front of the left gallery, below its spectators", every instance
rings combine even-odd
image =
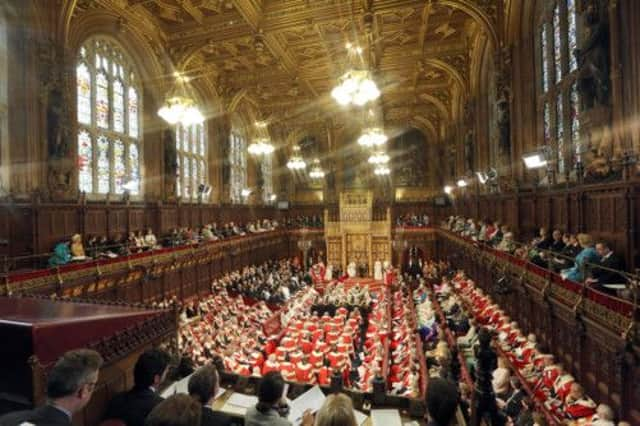
[[[37,294],[149,303],[202,294],[220,275],[288,256],[286,231],[152,250],[2,277],[0,296]]]

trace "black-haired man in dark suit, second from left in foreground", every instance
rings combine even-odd
[[[158,349],[140,355],[133,369],[133,388],[109,402],[105,419],[122,420],[127,426],[144,426],[147,415],[162,402],[157,391],[167,375],[170,360],[169,354]]]

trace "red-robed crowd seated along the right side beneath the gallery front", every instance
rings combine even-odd
[[[443,277],[442,284],[435,286],[434,291],[447,325],[458,335],[456,350],[464,354],[476,374],[480,368],[478,345],[483,336],[489,336],[498,353],[491,388],[498,415],[503,419],[516,425],[544,424],[544,418],[536,410],[536,404],[543,404],[563,423],[615,424],[611,408],[604,404],[598,406],[589,398],[562,364],[539,344],[536,336],[521,330],[463,272],[457,272],[451,280]],[[460,314],[468,316],[466,332],[455,325],[455,317]],[[524,390],[523,381],[531,393]]]

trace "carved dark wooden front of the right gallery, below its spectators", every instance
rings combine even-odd
[[[636,303],[438,229],[438,256],[463,269],[526,333],[555,354],[588,394],[640,423]],[[501,285],[496,285],[498,281]]]

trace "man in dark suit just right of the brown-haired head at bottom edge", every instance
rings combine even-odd
[[[231,418],[211,409],[211,404],[220,388],[218,370],[213,364],[196,370],[189,378],[189,395],[202,405],[201,426],[228,426]],[[194,425],[197,426],[197,425]]]

